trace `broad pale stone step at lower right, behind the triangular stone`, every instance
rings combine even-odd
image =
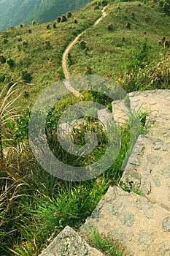
[[[110,236],[125,246],[126,255],[170,255],[170,213],[158,204],[120,187],[110,187],[81,233]]]

